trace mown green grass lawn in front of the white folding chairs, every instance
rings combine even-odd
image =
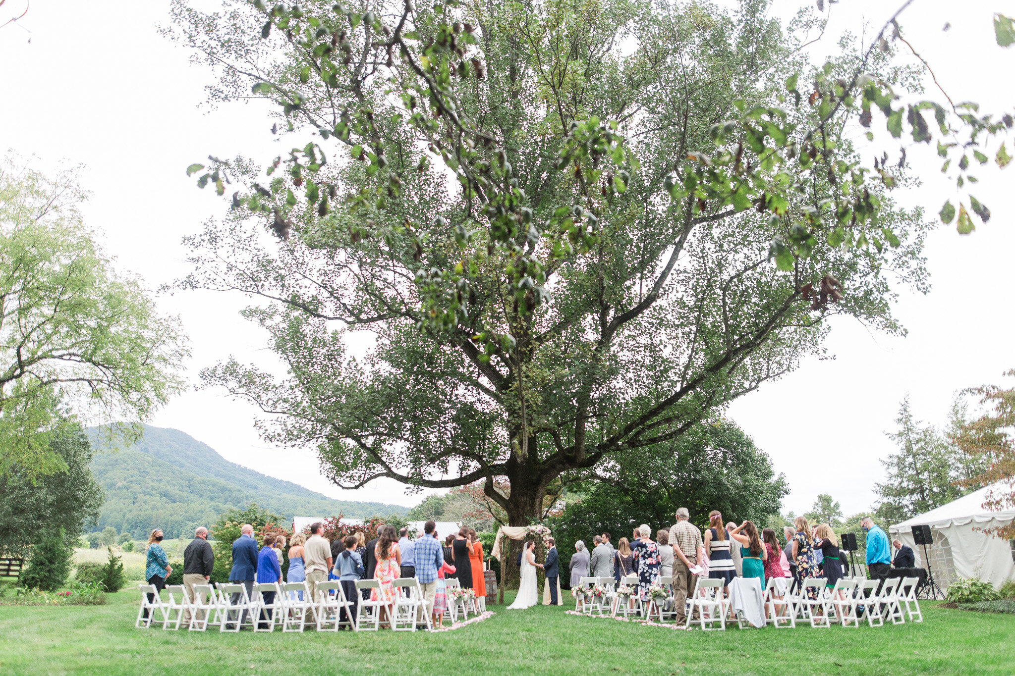
[[[137,605],[0,605],[0,674],[1015,674],[1015,617],[927,602],[921,624],[725,632],[492,606],[437,634],[142,630]]]

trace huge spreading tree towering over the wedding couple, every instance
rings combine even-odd
[[[516,525],[819,352],[829,316],[901,330],[931,224],[889,196],[893,139],[940,129],[961,184],[1011,124],[915,97],[892,23],[810,66],[823,18],[784,28],[763,0],[226,5],[178,0],[167,32],[217,69],[214,101],[266,97],[298,141],[265,178],[188,168],[236,190],[182,286],[258,297],[288,375],[206,381],[339,486],[484,480]],[[875,114],[892,156],[871,165]]]

